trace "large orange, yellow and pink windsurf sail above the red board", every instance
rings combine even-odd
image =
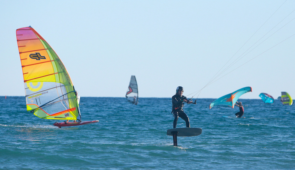
[[[26,107],[42,119],[81,120],[77,93],[60,58],[31,26],[16,30]]]

